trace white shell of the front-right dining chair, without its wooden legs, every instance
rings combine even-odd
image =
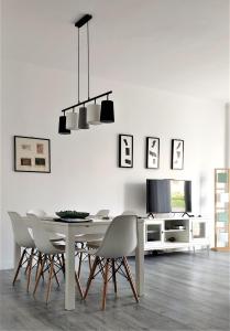
[[[138,244],[138,218],[134,215],[120,215],[112,220],[96,255],[117,258],[132,253]]]

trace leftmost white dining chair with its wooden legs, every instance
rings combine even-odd
[[[18,267],[17,267],[15,275],[13,277],[13,286],[18,278],[20,269],[22,268],[22,266],[24,264],[28,264],[28,266],[26,266],[26,269],[28,269],[26,290],[29,291],[30,282],[31,282],[31,270],[32,270],[32,265],[33,265],[33,257],[35,255],[35,243],[30,235],[30,232],[24,223],[23,217],[17,212],[8,212],[8,215],[10,216],[10,220],[11,220],[15,243],[19,246],[24,247],[24,249],[21,254]]]

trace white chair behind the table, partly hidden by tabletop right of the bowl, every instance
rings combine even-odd
[[[90,215],[90,217],[92,220],[107,220],[107,217],[109,217],[109,210],[99,210],[95,215]],[[81,270],[81,265],[83,265],[83,260],[84,260],[84,256],[88,258],[88,263],[89,263],[89,269],[91,269],[91,260],[90,260],[90,255],[87,255],[84,253],[83,248],[90,242],[97,242],[100,243],[101,239],[103,238],[105,234],[86,234],[86,235],[77,235],[75,237],[75,244],[76,246],[80,245],[81,252],[79,252],[77,254],[78,258],[79,258],[79,263],[78,263],[78,271],[77,275],[78,277],[80,277],[80,270]]]

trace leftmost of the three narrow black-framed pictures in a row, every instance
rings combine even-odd
[[[119,135],[119,168],[133,168],[133,136]]]

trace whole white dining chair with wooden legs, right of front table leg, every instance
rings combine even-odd
[[[120,215],[113,218],[106,232],[100,247],[88,252],[88,254],[94,254],[96,258],[88,278],[84,299],[86,299],[88,295],[91,281],[98,274],[96,273],[97,267],[99,267],[99,271],[102,270],[103,274],[102,310],[106,308],[107,285],[111,278],[113,279],[114,291],[117,292],[117,273],[121,274],[129,280],[133,296],[136,302],[139,302],[135,286],[127,260],[127,256],[135,249],[136,244],[136,216]],[[109,273],[111,273],[111,275],[109,275]]]

